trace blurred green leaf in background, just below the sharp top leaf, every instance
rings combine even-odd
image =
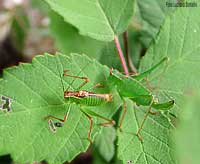
[[[104,46],[103,42],[80,35],[75,27],[65,22],[60,15],[53,11],[49,12],[49,16],[51,34],[55,38],[59,51],[66,54],[85,53],[94,58],[100,53]]]

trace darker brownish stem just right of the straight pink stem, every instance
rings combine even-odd
[[[136,74],[137,73],[137,70],[131,60],[131,56],[129,54],[129,45],[128,45],[128,32],[125,31],[123,33],[123,38],[124,38],[124,48],[125,48],[125,52],[126,52],[126,60],[128,62],[128,66],[129,68],[131,69],[132,73],[133,74]]]

